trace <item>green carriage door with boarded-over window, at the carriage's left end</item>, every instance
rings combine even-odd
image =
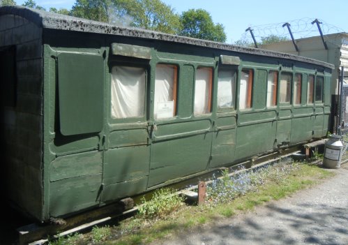
[[[55,158],[45,166],[54,217],[99,205],[103,154],[98,139],[104,126],[103,57],[61,52],[56,61],[56,106],[46,109],[55,110],[54,140],[49,142]]]

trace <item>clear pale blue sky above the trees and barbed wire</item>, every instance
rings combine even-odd
[[[75,0],[35,0],[37,5],[47,10],[50,7],[71,9]],[[24,0],[17,0],[21,5]],[[225,27],[226,43],[247,38],[252,40],[250,32],[245,29],[252,27],[257,39],[261,36],[275,34],[287,36],[289,31],[282,24],[289,22],[295,38],[319,36],[316,24],[318,19],[323,34],[348,32],[348,1],[347,0],[162,0],[174,8],[175,13],[181,14],[191,8],[207,10],[214,23]]]

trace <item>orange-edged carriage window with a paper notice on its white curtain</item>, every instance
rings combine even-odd
[[[158,64],[155,77],[155,119],[170,118],[176,114],[177,67]]]

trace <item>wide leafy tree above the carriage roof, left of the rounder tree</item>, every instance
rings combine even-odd
[[[179,15],[160,0],[77,0],[71,15],[176,34]]]

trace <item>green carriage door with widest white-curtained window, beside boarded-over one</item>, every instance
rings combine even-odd
[[[146,189],[150,158],[147,81],[145,66],[110,67],[103,202]]]

